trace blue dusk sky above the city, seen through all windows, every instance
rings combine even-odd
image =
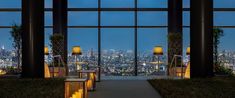
[[[20,8],[21,0],[1,0],[0,8]],[[45,0],[45,6],[51,7],[52,0]],[[101,0],[101,7],[104,8],[133,8],[134,0]],[[138,0],[139,8],[166,8],[167,0]],[[232,8],[235,7],[235,0],[214,0],[215,8]],[[98,7],[97,0],[69,0],[69,7]],[[184,7],[189,7],[189,0],[184,0]],[[97,26],[97,12],[69,12],[69,26]],[[214,25],[235,25],[235,12],[215,12]],[[189,26],[190,14],[184,12],[183,24]],[[13,23],[20,24],[20,12],[0,12],[0,25],[10,26]],[[46,12],[45,25],[52,25],[52,13]],[[133,26],[134,12],[101,12],[102,26]],[[138,25],[141,26],[167,26],[167,12],[138,12]],[[4,45],[6,49],[12,49],[9,34],[10,29],[0,29],[0,46]],[[134,50],[134,29],[126,28],[109,28],[101,29],[102,50]],[[183,29],[184,50],[189,46],[189,28]],[[235,50],[235,29],[224,29],[225,36],[221,39],[220,50]],[[68,47],[69,51],[74,45],[80,45],[83,50],[93,48],[97,50],[98,29],[68,29]],[[45,29],[45,44],[48,45],[49,35],[52,29]],[[167,48],[167,28],[157,29],[138,29],[138,50],[151,51],[155,45],[161,45],[165,51]]]

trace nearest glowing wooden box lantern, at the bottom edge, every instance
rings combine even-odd
[[[87,79],[66,79],[65,98],[87,98]]]

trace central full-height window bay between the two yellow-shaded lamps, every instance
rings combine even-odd
[[[101,73],[102,76],[133,76],[135,13],[118,8],[133,8],[134,0],[101,0],[101,8],[117,11],[101,11]],[[119,10],[119,11],[118,11]]]

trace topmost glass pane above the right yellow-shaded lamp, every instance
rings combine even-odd
[[[167,8],[168,0],[138,0],[138,8]]]

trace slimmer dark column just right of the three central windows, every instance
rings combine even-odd
[[[174,55],[182,55],[182,13],[182,0],[168,0],[168,66]],[[181,58],[178,58],[177,61],[180,65]]]

